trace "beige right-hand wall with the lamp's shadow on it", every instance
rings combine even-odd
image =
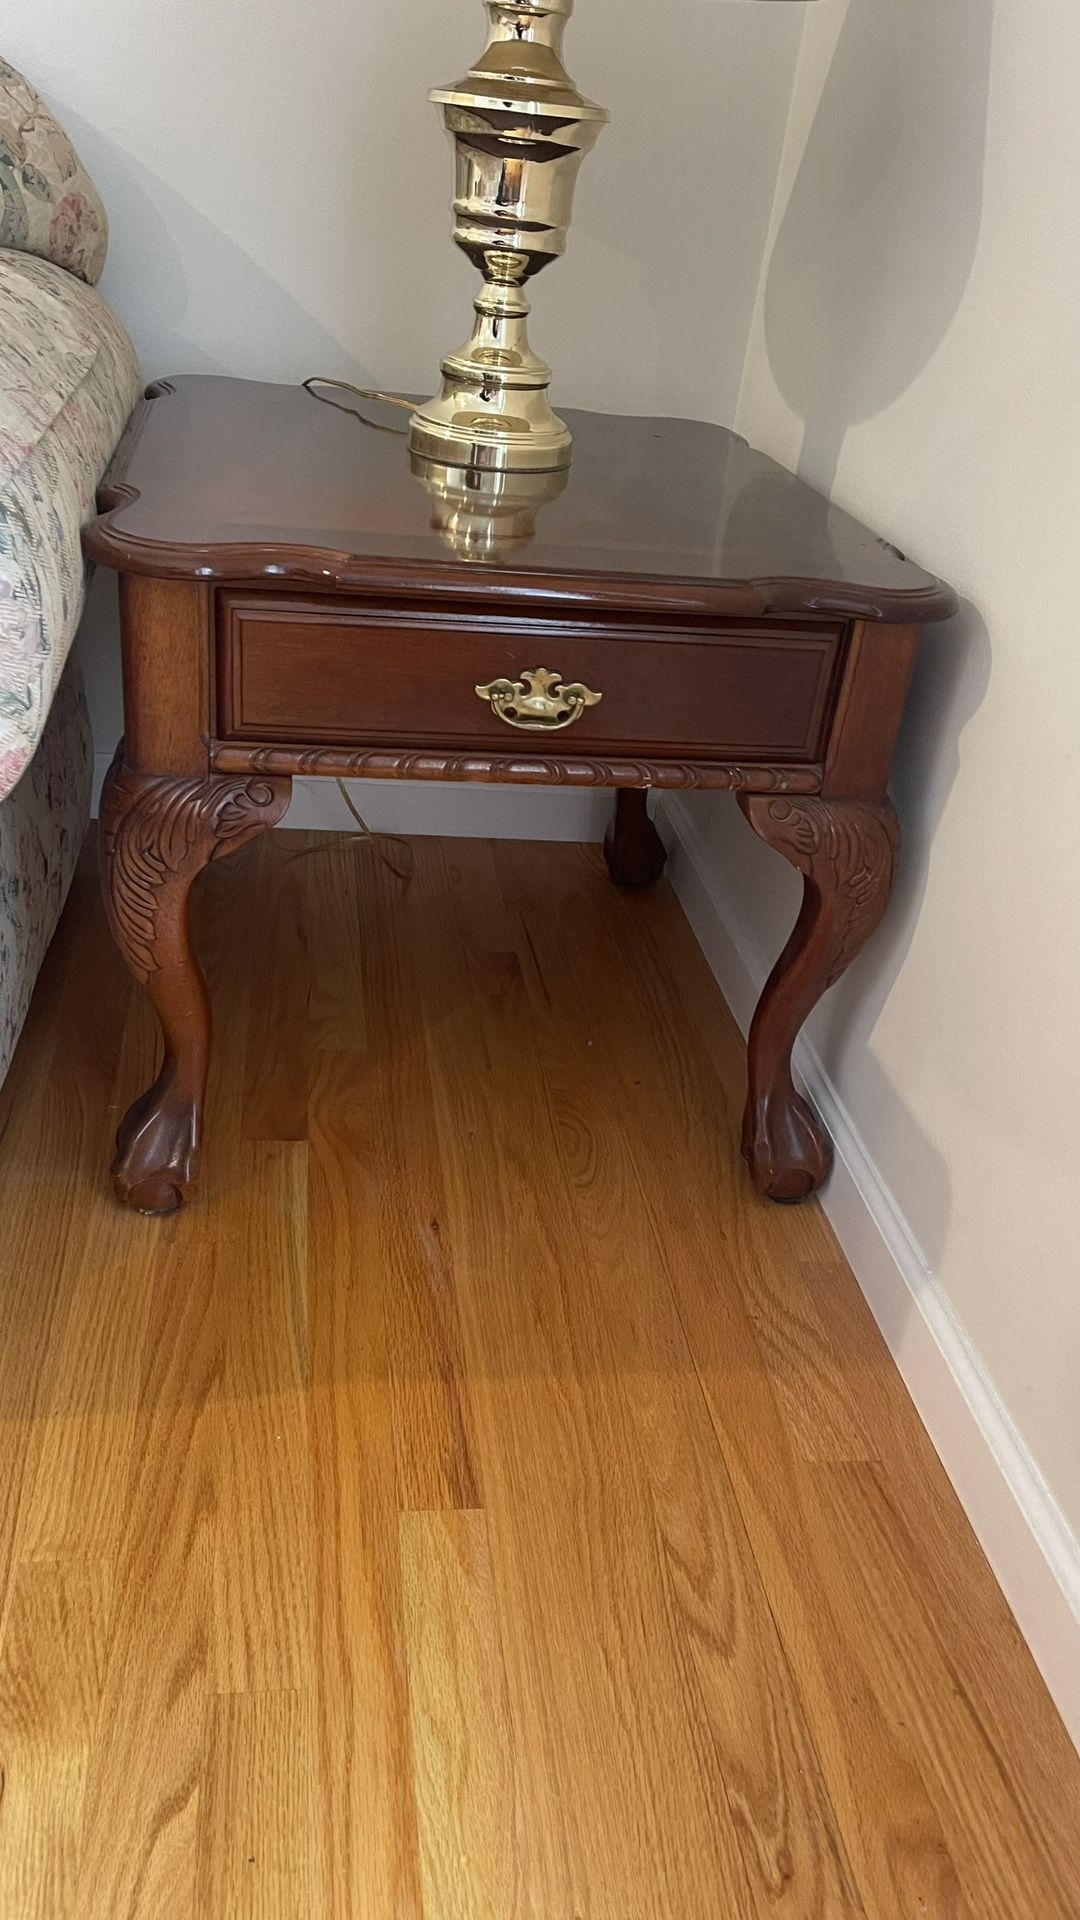
[[[1080,13],[807,13],[740,424],[965,597],[896,774],[892,922],[815,1043],[1080,1530]],[[774,954],[796,883],[723,801]]]

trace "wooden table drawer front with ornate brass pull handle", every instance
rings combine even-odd
[[[817,760],[844,626],[402,614],[225,591],[217,636],[221,739]],[[557,678],[523,682],[540,670]],[[480,699],[492,682],[521,685]],[[515,724],[534,718],[559,724]]]

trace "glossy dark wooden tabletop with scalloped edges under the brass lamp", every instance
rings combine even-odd
[[[567,413],[569,472],[511,476],[486,501],[492,482],[469,495],[465,476],[409,461],[405,415],[371,401],[204,374],[152,396],[85,536],[121,572],[444,593],[486,576],[559,599],[648,588],[653,605],[890,622],[955,609],[896,547],[700,420]]]

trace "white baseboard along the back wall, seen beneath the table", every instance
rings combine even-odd
[[[94,755],[94,812],[111,755]],[[519,787],[452,780],[350,780],[354,806],[373,833],[446,833],[480,839],[600,841],[611,793],[592,787]],[[332,780],[294,780],[284,828],[354,833]]]

